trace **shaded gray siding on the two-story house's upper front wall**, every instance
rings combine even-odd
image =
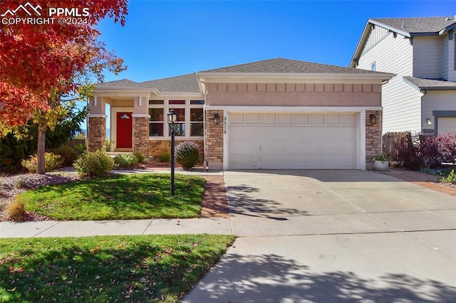
[[[413,77],[442,78],[442,38],[440,36],[413,38]]]

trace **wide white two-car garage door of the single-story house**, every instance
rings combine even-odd
[[[232,113],[229,169],[356,169],[356,114]]]

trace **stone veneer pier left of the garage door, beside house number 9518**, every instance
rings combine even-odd
[[[215,124],[214,115],[219,114],[220,124]],[[209,169],[223,169],[223,110],[206,111],[206,155]]]

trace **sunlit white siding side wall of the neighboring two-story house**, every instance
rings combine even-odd
[[[384,28],[375,26],[368,39],[381,36]],[[368,41],[369,44],[369,41]],[[393,33],[371,43],[370,49],[365,51],[359,60],[357,68],[369,70],[375,62],[378,72],[395,73],[382,88],[383,106],[383,133],[401,131],[419,131],[421,127],[421,98],[420,92],[403,81],[403,76],[412,75],[413,46],[404,36]]]

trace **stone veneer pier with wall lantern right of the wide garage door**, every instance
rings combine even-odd
[[[375,124],[371,123],[371,114],[377,117]],[[373,169],[373,159],[382,151],[382,112],[366,110],[366,169]]]

